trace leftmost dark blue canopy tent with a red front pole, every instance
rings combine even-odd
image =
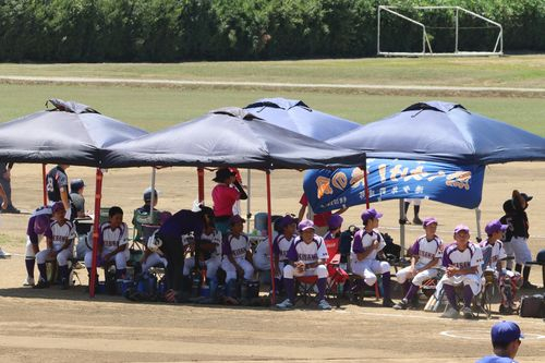
[[[147,132],[100,114],[86,105],[61,99],[50,99],[47,104],[53,108],[0,124],[0,159],[43,164],[44,204],[47,204],[46,164],[96,167],[94,230],[98,231],[102,184],[100,150]],[[96,251],[98,232],[93,237]],[[96,267],[96,259],[93,264]],[[95,274],[96,269],[93,270]]]

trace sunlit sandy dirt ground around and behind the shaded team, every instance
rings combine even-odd
[[[40,204],[39,166],[15,165],[13,199],[29,213]],[[68,169],[69,178],[86,183],[87,209],[93,209],[94,171]],[[243,172],[245,178],[245,172]],[[206,197],[214,183],[206,173]],[[150,169],[110,170],[105,176],[104,206],[120,205],[126,213],[141,205]],[[517,162],[491,166],[483,191],[482,228],[502,214],[501,204],[512,189],[534,196],[528,210],[531,250],[545,249],[545,166]],[[298,213],[302,173],[272,172],[272,210]],[[189,168],[157,172],[161,209],[187,208],[195,198],[196,171]],[[266,210],[265,177],[252,172],[252,210]],[[384,231],[399,243],[398,202],[374,205],[385,213]],[[362,208],[346,213],[346,226],[360,223]],[[245,214],[245,210],[244,210]],[[450,241],[453,226],[468,223],[475,235],[473,210],[424,202],[421,217],[436,216],[438,233]],[[412,218],[412,208],[409,210]],[[363,306],[344,305],[319,312],[298,308],[167,305],[132,303],[122,298],[89,299],[84,287],[69,291],[23,288],[25,228],[28,214],[0,215],[1,247],[13,254],[0,259],[0,361],[2,362],[174,362],[174,361],[292,361],[292,362],[473,362],[491,352],[489,328],[502,318],[447,320],[420,311],[396,312],[374,299]],[[408,243],[422,232],[408,226]],[[82,274],[85,275],[85,274]],[[534,268],[531,281],[542,285]],[[86,277],[83,276],[86,283]],[[543,292],[543,289],[540,291]],[[545,323],[510,317],[526,334],[519,362],[543,362]]]

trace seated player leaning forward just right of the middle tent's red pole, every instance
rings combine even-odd
[[[312,220],[305,219],[299,223],[300,235],[295,238],[288,251],[289,263],[283,267],[283,287],[288,293],[288,299],[277,304],[278,308],[291,308],[295,304],[294,276],[317,276],[318,280],[318,307],[331,310],[331,305],[326,301],[327,285],[327,254],[324,239],[315,234],[315,227]]]

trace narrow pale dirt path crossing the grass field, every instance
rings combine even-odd
[[[347,90],[409,90],[409,92],[468,92],[468,93],[510,93],[537,94],[545,96],[545,88],[529,87],[468,87],[468,86],[431,86],[431,85],[376,85],[376,84],[329,84],[329,83],[277,83],[277,82],[240,82],[240,81],[189,81],[189,80],[138,80],[138,78],[97,78],[97,77],[46,77],[0,75],[0,83],[36,82],[61,84],[112,84],[112,85],[154,85],[154,86],[217,86],[217,87],[258,87],[276,88],[318,88]]]

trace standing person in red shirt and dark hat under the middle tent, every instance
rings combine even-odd
[[[237,173],[229,168],[220,168],[213,179],[217,184],[211,190],[216,229],[227,235],[237,201],[247,199],[247,194],[237,181]]]

